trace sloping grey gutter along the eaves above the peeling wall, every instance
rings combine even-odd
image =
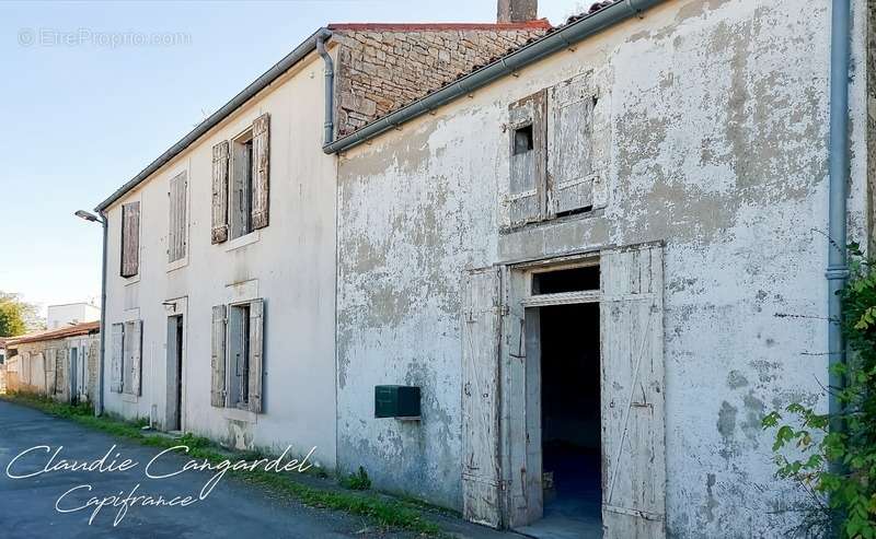
[[[395,129],[408,120],[429,113],[458,97],[468,95],[546,56],[569,48],[608,26],[630,19],[633,15],[638,15],[646,9],[661,3],[662,1],[664,0],[621,0],[607,8],[602,8],[572,24],[561,27],[556,32],[546,34],[535,42],[523,46],[508,56],[499,58],[477,71],[451,82],[433,94],[417,99],[383,118],[372,121],[351,134],[324,144],[322,151],[332,154],[361,144],[382,132]]]

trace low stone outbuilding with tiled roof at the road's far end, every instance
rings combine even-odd
[[[74,324],[5,340],[5,389],[60,402],[93,401],[100,378],[100,323]]]

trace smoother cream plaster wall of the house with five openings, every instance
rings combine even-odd
[[[291,444],[335,464],[335,157],[320,151],[323,65],[307,58],[110,210],[104,396],[106,409],[163,421],[166,400],[166,317],[162,302],[187,296],[184,353],[186,431],[230,445],[281,450]],[[255,243],[229,250],[210,244],[211,148],[270,114],[270,224]],[[168,186],[188,173],[187,263],[168,265]],[[141,201],[140,274],[119,277],[120,202]],[[233,283],[265,300],[264,413],[210,406],[211,307],[228,303]],[[249,292],[247,292],[249,293]],[[143,320],[142,396],[110,390],[114,323]],[[237,412],[237,411],[235,411]],[[241,421],[245,418],[246,421]]]

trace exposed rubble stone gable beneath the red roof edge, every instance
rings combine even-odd
[[[341,46],[335,113],[337,134],[344,136],[543,35],[550,25],[330,28]]]

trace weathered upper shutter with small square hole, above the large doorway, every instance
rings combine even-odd
[[[510,226],[538,221],[544,213],[545,95],[541,91],[508,107],[510,171],[503,203]]]

